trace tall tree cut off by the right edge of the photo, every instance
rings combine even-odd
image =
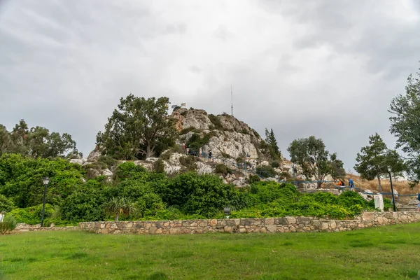
[[[405,164],[409,180],[414,186],[420,181],[420,72],[409,75],[405,94],[391,101],[390,132],[397,137],[396,148],[407,155]]]

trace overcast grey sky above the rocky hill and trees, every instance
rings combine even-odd
[[[0,123],[85,156],[120,97],[230,112],[279,147],[315,135],[352,169],[419,68],[418,0],[0,0]]]

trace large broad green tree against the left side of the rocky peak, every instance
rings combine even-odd
[[[104,154],[122,160],[151,157],[174,145],[175,121],[167,113],[167,97],[134,97],[120,99],[118,109],[108,118],[104,132],[97,134],[97,145]]]

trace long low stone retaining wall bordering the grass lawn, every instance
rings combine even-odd
[[[81,230],[102,234],[178,235],[205,232],[339,232],[395,223],[420,222],[420,212],[365,212],[354,220],[311,217],[232,218],[186,221],[80,223]]]

